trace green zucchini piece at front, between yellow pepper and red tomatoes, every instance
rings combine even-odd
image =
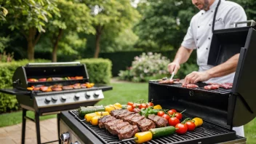
[[[153,138],[172,135],[175,133],[175,130],[176,130],[175,127],[172,127],[172,126],[149,129],[149,131],[152,132],[153,134]]]

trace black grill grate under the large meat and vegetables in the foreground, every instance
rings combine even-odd
[[[87,127],[95,136],[97,136],[100,140],[103,141],[103,143],[111,143],[111,142],[118,142],[119,137],[115,135],[111,135],[106,129],[100,129],[98,126],[93,126],[92,124],[89,124],[86,121],[83,121],[79,116],[78,111],[69,111],[73,116],[76,117],[78,121],[81,121],[81,124],[84,125],[84,127]],[[183,119],[187,118],[187,116],[184,116],[183,114]],[[219,127],[215,124],[211,124],[207,121],[204,121],[204,124],[201,125],[201,127],[197,127],[193,132],[186,132],[185,135],[177,135],[176,133],[174,135],[170,135],[167,137],[159,137],[156,139],[153,139],[151,141],[148,141],[146,144],[164,144],[164,143],[181,143],[181,142],[187,142],[190,143],[191,140],[200,140],[202,138],[207,138],[207,137],[216,137],[217,139],[214,140],[222,140],[223,135],[225,135],[225,139],[231,139],[233,136],[235,136],[235,132],[231,131],[229,129],[225,129],[223,127]],[[231,137],[231,138],[230,138]],[[220,142],[220,141],[216,141]],[[126,142],[119,142],[119,143],[135,143],[134,140],[129,140]],[[208,141],[209,143],[209,141]],[[213,142],[211,142],[213,143]]]

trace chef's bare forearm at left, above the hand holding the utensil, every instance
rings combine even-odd
[[[191,53],[193,52],[193,49],[188,49],[183,46],[180,47],[180,49],[177,51],[177,54],[175,55],[175,60],[173,62],[183,64],[185,63],[188,58],[191,56]]]

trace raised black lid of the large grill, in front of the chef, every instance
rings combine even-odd
[[[228,100],[228,125],[239,127],[256,116],[256,57],[255,27],[229,28],[213,33],[208,58],[209,65],[225,63],[233,55],[240,53],[233,88]],[[241,117],[243,119],[241,119]]]

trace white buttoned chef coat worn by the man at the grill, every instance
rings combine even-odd
[[[213,67],[212,65],[207,65],[207,60],[209,56],[209,48],[212,42],[212,20],[218,1],[219,0],[215,0],[211,7],[209,7],[208,11],[201,10],[193,16],[187,34],[181,44],[187,49],[196,49],[199,71],[207,71]],[[221,0],[215,18],[215,30],[230,28],[231,23],[245,20],[247,20],[247,15],[239,4],[232,1]],[[227,76],[209,79],[209,81],[205,82],[233,82],[234,75],[235,73],[231,73]],[[243,126],[233,127],[233,130],[236,131],[236,135],[244,137]]]

